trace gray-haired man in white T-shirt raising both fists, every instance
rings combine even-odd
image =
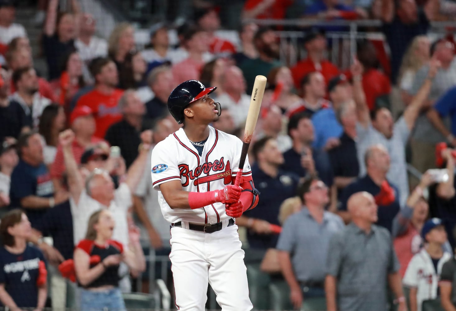
[[[124,181],[120,182],[117,189],[114,189],[114,182],[111,176],[109,176],[108,171],[104,169],[95,168],[83,180],[71,151],[73,140],[74,133],[72,130],[66,130],[59,135],[59,142],[63,147],[63,156],[65,166],[67,167],[68,185],[72,202],[74,244],[78,245],[84,238],[90,215],[107,207],[116,223],[112,238],[123,245],[127,245],[128,209],[132,205],[132,193],[134,193],[141,179],[145,161],[148,159],[148,150],[152,140],[151,131],[141,133],[142,143],[140,145],[140,154],[130,166]],[[131,289],[130,280],[128,274],[123,274],[126,276],[121,280],[120,287],[123,291],[129,292]]]

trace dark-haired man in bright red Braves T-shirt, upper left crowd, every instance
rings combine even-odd
[[[91,66],[95,88],[79,98],[76,107],[88,106],[95,116],[97,130],[94,136],[104,138],[109,126],[122,119],[117,102],[123,91],[116,88],[119,75],[115,63],[109,58],[98,58]]]

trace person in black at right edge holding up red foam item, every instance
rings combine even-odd
[[[442,144],[437,144],[442,145]],[[456,196],[455,196],[455,150],[450,148],[437,149],[437,166],[438,168],[446,168],[447,178],[445,174],[441,174],[442,180],[429,188],[429,206],[430,216],[437,217],[444,221],[448,241],[454,249],[456,240],[453,230],[456,225]],[[440,154],[440,156],[439,156]]]

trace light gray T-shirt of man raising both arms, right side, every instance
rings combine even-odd
[[[407,163],[405,162],[405,145],[409,139],[410,130],[404,117],[399,118],[394,124],[393,136],[387,139],[382,133],[374,129],[369,123],[367,128],[357,124],[356,130],[358,138],[356,140],[356,150],[358,151],[359,176],[366,175],[366,164],[364,154],[372,145],[381,144],[389,153],[391,159],[388,175],[389,181],[399,188],[399,202],[401,207],[405,205],[409,197],[409,178],[407,175]]]

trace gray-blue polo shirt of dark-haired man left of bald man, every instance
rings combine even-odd
[[[324,212],[317,223],[306,207],[291,215],[280,233],[277,249],[290,253],[296,279],[300,282],[323,282],[326,257],[332,235],[344,228],[342,218]]]

